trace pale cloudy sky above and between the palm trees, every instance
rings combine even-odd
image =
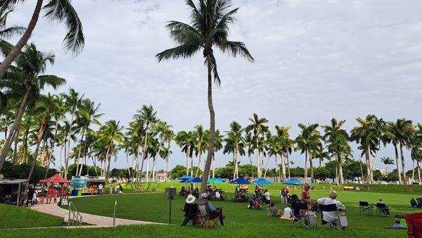
[[[18,5],[9,24],[27,25],[35,1]],[[69,87],[101,103],[102,121],[122,125],[143,104],[175,131],[209,126],[206,68],[202,54],[191,59],[158,63],[155,54],[174,46],[165,29],[169,20],[188,23],[183,0],[74,0],[84,27],[86,44],[73,58],[63,50],[65,27],[40,18],[30,42],[53,51],[56,63],[48,73],[64,77]],[[216,126],[228,130],[236,120],[249,124],[253,113],[275,125],[328,125],[369,113],[384,120],[408,118],[422,123],[417,106],[422,99],[422,1],[293,1],[234,0],[239,7],[229,39],[245,42],[254,63],[217,53],[220,87],[214,87]],[[16,39],[12,39],[16,42]],[[360,151],[352,143],[354,156]],[[173,144],[170,168],[184,164]],[[378,157],[395,158],[392,145]],[[406,151],[407,170],[411,168]],[[304,156],[290,156],[295,165]],[[223,166],[231,155],[216,156]],[[274,158],[271,159],[274,166]],[[378,160],[379,161],[379,160]],[[248,163],[242,157],[241,163]],[[113,168],[124,168],[123,154]],[[158,169],[163,163],[158,162]],[[385,168],[380,162],[376,168]],[[390,165],[390,170],[395,165]]]

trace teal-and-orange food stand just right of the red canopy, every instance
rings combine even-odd
[[[103,192],[105,189],[106,179],[104,177],[95,176],[72,176],[73,196],[81,196],[87,194],[98,194],[98,185],[103,184]]]

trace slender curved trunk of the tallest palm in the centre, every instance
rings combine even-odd
[[[214,137],[215,137],[215,111],[212,106],[212,77],[211,77],[211,54],[212,49],[206,49],[207,52],[207,66],[208,66],[208,109],[210,110],[210,143],[208,146],[207,161],[205,161],[205,168],[202,178],[202,184],[200,185],[200,192],[205,192],[207,187],[208,175],[210,175],[212,155],[214,154]]]

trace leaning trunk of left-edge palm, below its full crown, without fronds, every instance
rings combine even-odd
[[[3,76],[1,76],[1,77],[3,77]],[[3,168],[4,161],[6,161],[8,151],[11,149],[11,145],[12,145],[11,142],[13,140],[13,138],[12,138],[13,135],[15,134],[15,131],[19,132],[20,123],[22,122],[23,112],[25,111],[25,107],[26,107],[26,104],[27,104],[28,97],[30,96],[31,89],[32,89],[32,86],[30,84],[27,84],[27,88],[25,90],[25,96],[23,96],[22,102],[20,103],[20,106],[19,106],[18,115],[16,115],[15,122],[13,123],[11,129],[9,130],[9,134],[8,134],[6,142],[3,146],[3,149],[1,149],[0,170],[1,170],[1,168]]]

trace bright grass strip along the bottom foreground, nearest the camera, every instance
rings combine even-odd
[[[366,227],[369,227],[367,225]],[[1,237],[405,237],[403,230],[305,230],[277,224],[226,225],[203,230],[178,225],[130,225],[108,228],[25,229],[1,232]]]

